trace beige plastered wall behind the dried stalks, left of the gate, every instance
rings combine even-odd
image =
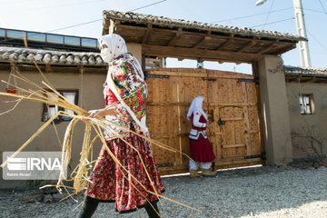
[[[30,80],[40,82],[43,80],[41,74],[36,72],[22,72]],[[0,71],[0,80],[8,80],[9,70]],[[105,80],[104,73],[88,74],[84,73],[83,86],[81,85],[81,74],[74,73],[53,73],[45,76],[54,85],[57,90],[60,89],[78,89],[79,90],[79,105],[83,102],[85,110],[97,109],[104,107],[103,84]],[[20,87],[32,88],[17,81]],[[44,86],[44,85],[42,85]],[[5,92],[5,84],[0,83],[0,92]],[[15,103],[5,103],[5,101],[13,100],[10,97],[0,95],[0,113],[12,108]],[[41,121],[43,112],[43,104],[31,101],[23,101],[14,111],[0,115],[0,162],[3,163],[3,152],[11,152],[17,150],[22,144],[27,141],[32,134],[43,124]],[[68,122],[56,124],[61,141],[64,138],[64,131]],[[79,153],[81,152],[84,137],[84,123],[77,123],[74,129],[74,139],[72,144],[72,167],[79,161]],[[94,158],[96,158],[100,142],[94,145]],[[24,151],[61,151],[60,144],[54,132],[52,125],[48,126],[35,140],[27,145]],[[2,169],[0,170],[0,188],[24,185],[25,182],[19,181],[4,181],[2,179]],[[55,182],[55,181],[54,181]]]

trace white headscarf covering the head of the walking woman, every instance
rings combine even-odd
[[[100,46],[107,45],[107,48],[101,49],[101,57],[104,62],[110,63],[114,58],[127,53],[127,47],[124,38],[120,35],[111,34],[98,37]]]

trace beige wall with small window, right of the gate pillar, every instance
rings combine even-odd
[[[286,83],[286,90],[291,120],[293,158],[314,157],[316,153],[312,149],[312,144],[319,153],[327,154],[327,84],[290,82]],[[300,114],[300,94],[312,94],[313,114]],[[314,138],[313,141],[311,137]]]

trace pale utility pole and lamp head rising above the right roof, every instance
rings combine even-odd
[[[258,0],[255,5],[263,5],[267,0]],[[293,0],[293,8],[295,15],[295,25],[297,35],[303,36],[307,38],[305,23],[304,23],[304,15],[302,9],[302,1],[301,0]],[[301,66],[310,68],[312,66],[310,60],[309,46],[307,41],[299,42],[299,50],[300,50],[300,59]]]

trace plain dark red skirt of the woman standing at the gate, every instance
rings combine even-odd
[[[190,157],[194,162],[213,162],[215,156],[209,139],[200,134],[198,140],[190,139]]]

